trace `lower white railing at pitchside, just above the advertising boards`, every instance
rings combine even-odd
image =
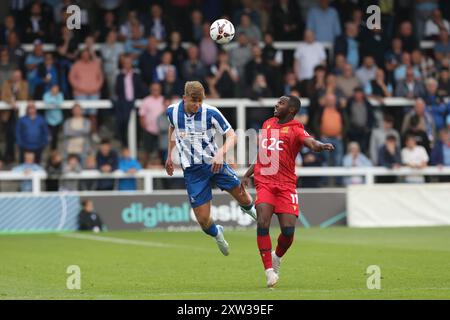
[[[242,177],[247,170],[245,168],[237,169],[236,173]],[[408,167],[401,167],[398,169],[387,169],[384,167],[370,167],[370,168],[342,168],[342,167],[297,167],[297,176],[300,177],[364,177],[366,185],[373,185],[375,177],[379,176],[450,176],[450,167],[427,167],[424,169],[411,169]],[[163,169],[145,169],[135,174],[128,174],[122,171],[115,171],[113,173],[101,173],[97,170],[84,170],[80,173],[68,173],[61,176],[60,180],[93,180],[93,179],[123,179],[136,178],[143,179],[143,191],[150,194],[154,191],[154,179],[157,178],[182,178],[183,172],[181,169],[176,169],[172,177],[169,177]],[[47,179],[45,172],[32,173],[18,173],[12,171],[0,171],[1,181],[32,181],[32,194],[41,194],[44,191],[41,189],[41,182]]]

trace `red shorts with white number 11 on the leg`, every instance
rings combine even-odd
[[[298,195],[295,185],[283,186],[276,184],[256,185],[255,204],[268,203],[274,206],[274,213],[288,213],[298,217]]]

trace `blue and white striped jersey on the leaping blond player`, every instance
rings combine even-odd
[[[194,164],[211,163],[217,152],[216,132],[224,135],[230,123],[216,107],[202,103],[195,114],[184,111],[184,102],[167,108],[167,118],[174,128],[176,146],[183,169]],[[170,137],[169,137],[170,139]]]

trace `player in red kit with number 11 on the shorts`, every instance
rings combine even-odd
[[[334,150],[332,144],[315,140],[300,122],[294,120],[300,107],[300,99],[294,96],[282,96],[278,100],[274,117],[263,124],[257,160],[241,181],[244,191],[254,174],[257,242],[270,288],[278,281],[281,257],[294,240],[299,215],[295,158],[302,146],[314,152]],[[278,216],[281,234],[275,251],[272,251],[269,228],[274,213]]]

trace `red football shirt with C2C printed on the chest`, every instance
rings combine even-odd
[[[284,124],[270,118],[263,124],[258,139],[258,157],[255,164],[255,184],[297,184],[295,158],[310,137],[303,125],[292,120]]]

